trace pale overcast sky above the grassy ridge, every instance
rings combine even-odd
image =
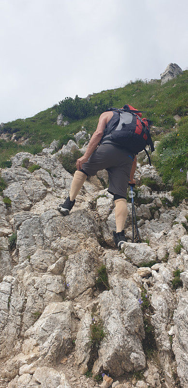
[[[186,8],[187,0],[0,0],[0,122],[159,79],[170,62],[186,69]]]

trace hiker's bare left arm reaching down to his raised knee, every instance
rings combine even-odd
[[[91,156],[92,152],[98,146],[98,144],[101,140],[101,137],[103,135],[104,129],[106,127],[106,121],[107,121],[107,114],[106,114],[106,112],[104,112],[101,114],[101,116],[99,118],[99,123],[98,123],[97,129],[93,133],[93,135],[91,136],[91,140],[87,146],[87,150],[86,150],[85,154],[81,158],[79,158],[76,162],[77,170],[81,170],[82,164],[87,162],[89,156]]]

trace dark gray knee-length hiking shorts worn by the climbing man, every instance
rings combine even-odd
[[[134,157],[135,154],[121,146],[101,144],[93,151],[88,161],[82,164],[82,171],[93,176],[100,170],[106,170],[109,177],[108,192],[126,198]]]

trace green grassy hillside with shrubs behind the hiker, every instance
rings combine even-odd
[[[178,195],[185,197],[188,155],[188,70],[162,86],[160,80],[131,81],[124,87],[92,95],[91,102],[97,105],[101,99],[110,106],[121,108],[129,103],[147,112],[143,115],[150,118],[153,125],[159,128],[158,131],[152,129],[152,139],[161,140],[159,152],[153,162],[167,188],[175,190],[178,187],[184,188]],[[180,115],[182,119],[173,129],[175,114]],[[61,127],[56,123],[57,116],[57,106],[54,106],[25,120],[18,119],[6,123],[0,130],[1,133],[8,133],[10,139],[15,133],[18,142],[22,137],[29,138],[29,144],[21,146],[16,142],[0,140],[0,166],[6,166],[6,161],[19,151],[40,152],[42,145],[50,144],[54,139],[60,139],[61,145],[66,144],[69,138],[72,138],[72,134],[81,130],[82,126],[92,134],[99,119],[99,115],[80,120],[64,117],[70,124]]]

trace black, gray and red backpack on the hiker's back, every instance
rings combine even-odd
[[[107,109],[106,112],[109,111],[115,114],[106,125],[100,144],[112,142],[123,146],[133,154],[138,154],[144,149],[151,165],[150,157],[145,149],[145,146],[148,145],[151,152],[155,150],[150,135],[151,121],[146,118],[141,119],[143,111],[137,111],[128,104],[121,109]]]

